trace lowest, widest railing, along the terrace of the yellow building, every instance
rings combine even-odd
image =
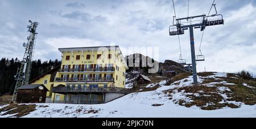
[[[113,87],[53,87],[53,93],[131,93],[130,89]]]

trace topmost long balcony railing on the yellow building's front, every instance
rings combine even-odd
[[[61,68],[59,72],[104,72],[104,71],[115,71],[114,67],[104,67],[104,68]]]

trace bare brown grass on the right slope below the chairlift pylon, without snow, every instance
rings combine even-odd
[[[201,72],[198,74],[202,77],[207,77],[214,75],[214,72]],[[184,78],[187,78],[189,74],[180,74],[174,77],[170,80],[170,83],[173,83],[174,81],[181,80]],[[232,78],[233,77],[233,78]],[[170,97],[170,100],[172,100],[171,93],[174,92],[174,90],[177,90],[178,92],[185,91],[184,93],[198,93],[199,96],[195,96],[194,94],[187,95],[188,98],[193,100],[193,102],[186,102],[184,100],[173,100],[176,104],[185,106],[187,108],[190,108],[191,106],[198,106],[203,110],[216,110],[221,109],[224,107],[229,108],[240,108],[240,105],[235,104],[229,104],[228,102],[224,102],[224,104],[220,104],[224,98],[218,94],[217,88],[218,87],[227,87],[231,90],[225,91],[224,93],[227,94],[229,97],[226,101],[236,101],[236,102],[243,102],[246,105],[255,105],[256,104],[256,89],[248,88],[243,86],[243,83],[246,83],[252,87],[256,87],[256,81],[255,80],[245,80],[237,76],[236,74],[228,74],[227,78],[209,78],[204,79],[203,84],[213,83],[217,82],[220,83],[221,81],[226,81],[227,83],[233,83],[236,85],[225,85],[225,84],[214,84],[215,87],[206,87],[204,85],[191,85],[190,87],[183,87],[183,88],[175,88],[168,91],[164,91]],[[204,91],[203,93],[199,91]]]

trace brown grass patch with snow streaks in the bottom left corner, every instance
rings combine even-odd
[[[36,105],[9,105],[5,108],[0,109],[0,113],[7,111],[2,115],[13,115],[11,117],[23,117],[27,114],[30,114],[32,111],[35,111]]]

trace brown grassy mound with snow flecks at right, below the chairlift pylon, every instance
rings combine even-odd
[[[169,84],[177,82],[180,79],[188,78],[191,74],[180,74],[175,76]],[[199,73],[201,79],[204,79],[199,85],[191,85],[189,87],[180,87],[165,91],[170,100],[176,104],[186,106],[198,106],[203,110],[221,109],[226,106],[229,108],[240,108],[241,104],[256,104],[256,81],[245,80],[236,74],[227,74],[226,77],[210,78],[214,72]],[[184,81],[183,81],[184,83]],[[251,87],[245,87],[243,84],[249,84]],[[173,99],[175,93],[183,94],[186,99]]]

